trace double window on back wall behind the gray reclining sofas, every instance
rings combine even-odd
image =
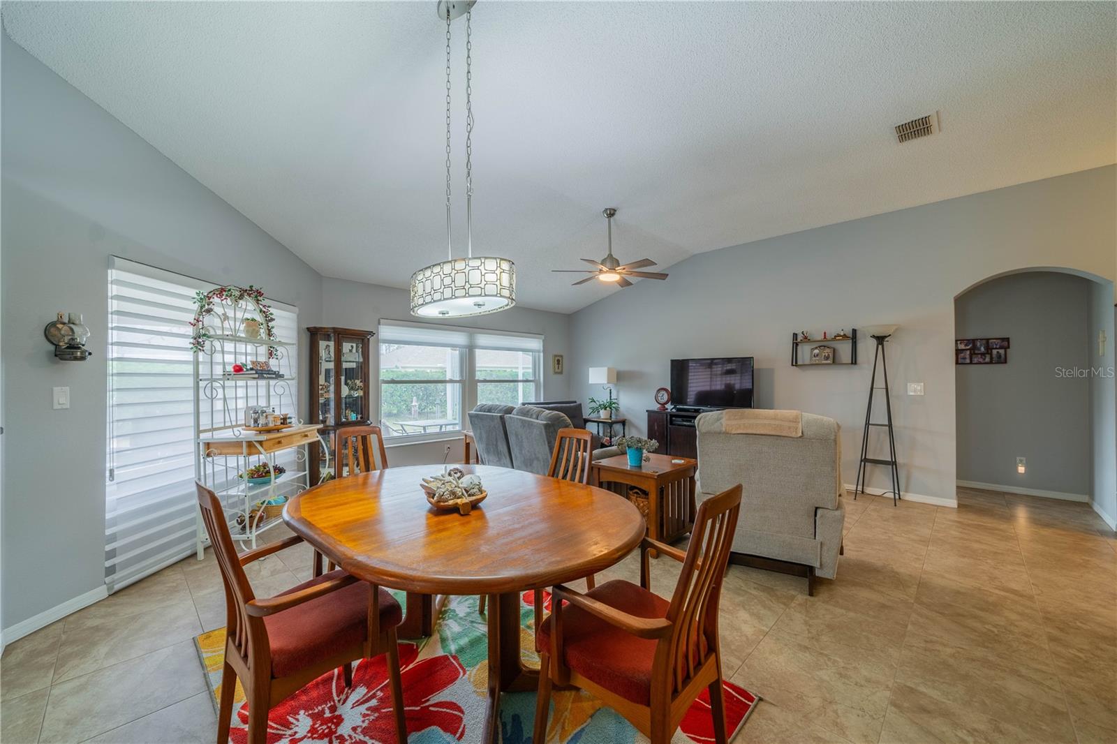
[[[476,403],[543,395],[543,336],[391,321],[379,337],[385,438],[437,439],[461,431]]]

